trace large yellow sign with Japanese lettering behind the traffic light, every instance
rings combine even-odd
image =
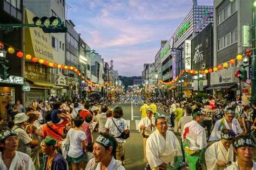
[[[33,24],[35,15],[26,9],[26,24]],[[44,33],[39,27],[29,27],[25,29],[25,54],[35,56],[38,60],[54,61],[49,33]]]

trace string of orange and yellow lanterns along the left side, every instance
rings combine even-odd
[[[24,56],[24,53],[20,49],[12,47],[12,46],[4,43],[4,42],[0,42],[0,50],[5,51],[4,50],[4,45],[9,46],[7,48],[8,53],[14,54],[15,53],[15,49],[16,49],[16,51],[18,51],[16,53],[18,58],[22,58]],[[82,79],[84,79],[88,84],[91,84],[91,86],[93,86],[93,87],[100,87],[100,88],[102,88],[104,86],[107,86],[107,87],[113,88],[115,90],[123,90],[122,88],[119,88],[119,87],[110,86],[110,84],[108,82],[105,82],[103,84],[95,84],[95,83],[85,79],[85,76],[83,74],[81,74],[80,71],[76,67],[73,67],[73,66],[60,65],[60,64],[58,64],[56,62],[53,63],[53,62],[49,62],[48,60],[38,59],[36,56],[32,57],[30,54],[26,54],[25,58],[26,58],[26,60],[32,60],[32,62],[35,62],[35,63],[39,62],[39,63],[44,64],[44,65],[49,66],[49,67],[54,67],[54,68],[58,67],[58,68],[61,68],[61,69],[72,70],[72,71],[76,72],[79,76],[81,76]]]

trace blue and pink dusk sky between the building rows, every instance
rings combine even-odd
[[[100,1],[66,0],[66,19],[104,62],[114,61],[122,76],[142,75],[143,64],[154,62],[161,40],[169,40],[192,8],[192,0]],[[213,0],[198,0],[213,5]]]

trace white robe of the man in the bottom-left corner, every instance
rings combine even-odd
[[[0,169],[7,170],[8,168],[5,166],[2,152],[0,152]],[[32,159],[29,157],[28,154],[15,151],[15,156],[12,159],[11,166],[9,169],[18,169],[18,170],[34,170],[36,169]]]

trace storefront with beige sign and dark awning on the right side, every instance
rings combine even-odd
[[[227,97],[233,100],[235,96],[240,95],[238,90],[239,79],[234,74],[237,72],[236,67],[218,70],[211,73],[211,86],[206,90],[212,90],[213,95],[220,100]]]

